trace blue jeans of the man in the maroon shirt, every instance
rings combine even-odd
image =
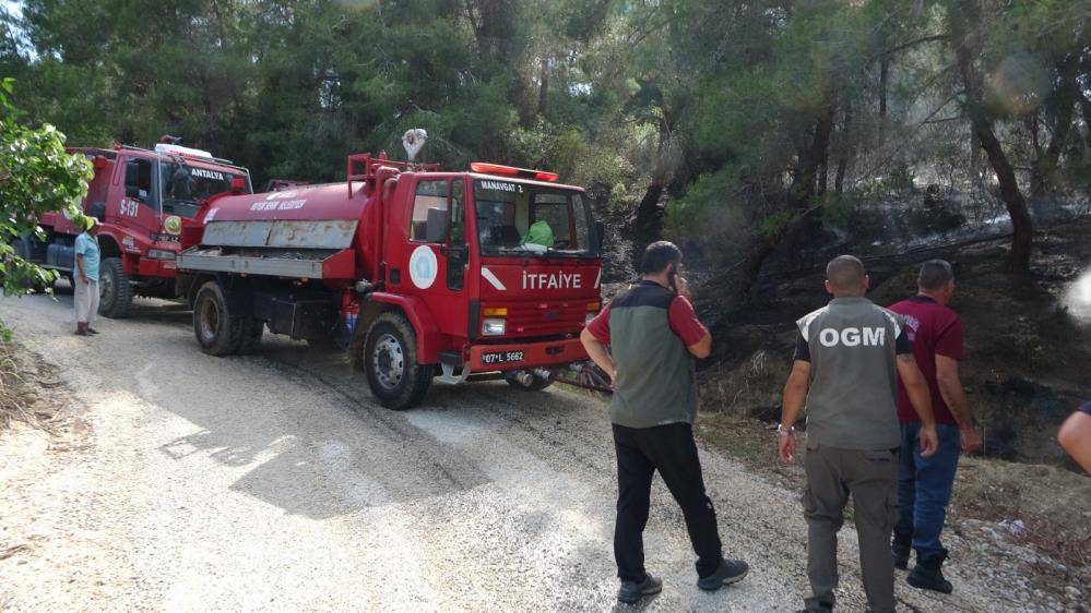
[[[902,449],[912,449],[912,453],[902,454],[898,470],[899,519],[894,534],[902,542],[912,539],[918,560],[947,553],[939,542],[939,533],[944,530],[962,450],[957,426],[937,423],[936,433],[939,435],[936,454],[921,457],[921,424],[902,424]]]

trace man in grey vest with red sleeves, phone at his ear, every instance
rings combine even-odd
[[[614,382],[610,421],[618,471],[614,557],[621,579],[617,599],[626,603],[663,588],[644,569],[643,531],[655,471],[686,518],[698,555],[698,587],[718,590],[749,570],[745,562],[723,557],[716,513],[704,491],[693,441],[693,359],[708,357],[712,336],[693,312],[688,284],[678,275],[680,266],[681,251],[673,243],[648,245],[640,285],[615,298],[580,335],[588,354]]]

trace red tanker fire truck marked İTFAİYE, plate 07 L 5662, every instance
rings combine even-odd
[[[339,342],[392,409],[418,404],[432,380],[537,390],[586,361],[579,334],[601,308],[603,229],[582,189],[384,153],[349,156],[347,177],[213,196],[186,225],[178,267],[204,352],[252,351],[266,326]],[[552,247],[527,241],[538,223]]]

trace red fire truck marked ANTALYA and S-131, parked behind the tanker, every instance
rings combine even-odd
[[[182,220],[211,195],[230,190],[233,181],[237,190],[251,191],[246,168],[190,147],[68,151],[86,156],[95,170],[83,209],[100,224],[99,312],[108,317],[124,316],[133,296],[178,297],[175,256]],[[46,240],[23,237],[16,252],[71,278],[73,243],[83,229],[57,213],[43,215],[39,225]]]

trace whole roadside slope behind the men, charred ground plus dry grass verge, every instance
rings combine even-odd
[[[1029,597],[1056,598],[1060,609],[1071,586],[1091,579],[1091,479],[1055,440],[1072,408],[1091,398],[1091,322],[1077,296],[1089,283],[1088,236],[1089,216],[1040,231],[1027,278],[1000,271],[1006,239],[865,261],[869,297],[884,305],[915,292],[921,262],[942,257],[954,266],[951,308],[967,330],[963,385],[985,448],[960,462],[947,533],[963,558],[984,549],[1018,557]],[[799,491],[801,459],[785,466],[776,458],[772,430],[791,368],[793,322],[828,299],[822,264],[763,278],[750,309],[714,330],[718,353],[699,373],[701,436]]]

